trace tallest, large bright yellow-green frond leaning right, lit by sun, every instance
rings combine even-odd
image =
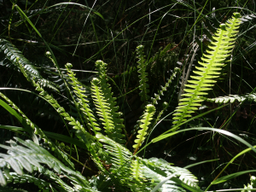
[[[200,102],[204,100],[201,96],[207,95],[207,90],[212,90],[212,86],[216,83],[219,77],[221,67],[224,66],[224,61],[231,55],[231,52],[235,46],[236,31],[241,24],[241,15],[234,13],[232,19],[228,20],[226,24],[221,24],[215,36],[212,38],[214,42],[208,46],[207,54],[203,54],[202,61],[198,63],[201,67],[195,67],[197,71],[195,74],[199,76],[190,76],[193,80],[189,80],[189,84],[186,84],[187,89],[183,94],[184,98],[180,100],[176,113],[174,113],[174,125],[179,125],[183,121],[186,121],[194,113],[198,107],[201,106]]]

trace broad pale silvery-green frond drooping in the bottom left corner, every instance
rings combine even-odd
[[[1,148],[8,150],[8,154],[0,154],[1,167],[8,168],[10,166],[17,174],[22,176],[24,174],[23,169],[31,173],[34,171],[34,168],[45,170],[44,166],[40,165],[42,163],[57,173],[64,173],[76,177],[79,183],[83,183],[89,187],[88,181],[79,172],[74,172],[67,166],[64,166],[60,160],[49,154],[46,149],[32,143],[30,140],[23,141],[17,137],[15,137],[15,140],[25,147],[17,145],[13,140],[9,141],[10,147],[0,144]],[[0,175],[3,175],[3,172],[0,172]],[[0,183],[2,185],[6,184],[4,177],[1,177]]]

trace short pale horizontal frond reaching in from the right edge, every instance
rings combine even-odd
[[[227,103],[227,102],[256,102],[256,93],[248,93],[244,96],[230,95],[230,96],[218,96],[216,98],[206,98],[207,102],[216,102],[216,103]]]

